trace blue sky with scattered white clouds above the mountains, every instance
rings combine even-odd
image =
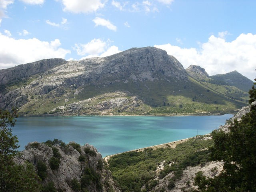
[[[209,75],[256,78],[255,0],[0,0],[0,69],[155,46]]]

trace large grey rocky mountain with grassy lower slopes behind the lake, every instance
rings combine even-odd
[[[172,115],[232,113],[246,105],[246,92],[198,79],[207,75],[199,66],[187,72],[154,47],[80,61],[40,60],[1,70],[0,108],[16,107],[23,115]],[[231,98],[227,88],[239,95]]]

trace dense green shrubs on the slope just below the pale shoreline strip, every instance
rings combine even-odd
[[[146,149],[143,152],[126,152],[113,156],[109,160],[109,169],[112,171],[114,180],[122,191],[140,192],[142,186],[144,191],[152,189],[157,180],[157,166],[162,162],[164,170],[160,171],[159,177],[163,178],[175,171],[175,181],[182,175],[182,169],[186,166],[204,164],[209,160],[209,151],[205,148],[212,145],[212,140],[201,140],[200,137],[193,138],[178,144],[176,148],[158,148],[156,150]],[[172,163],[171,166],[169,164]],[[171,184],[170,186],[171,187]]]

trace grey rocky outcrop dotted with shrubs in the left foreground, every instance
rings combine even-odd
[[[32,142],[16,157],[17,163],[25,161],[34,164],[44,186],[54,182],[58,191],[75,192],[84,188],[90,192],[120,192],[111,173],[103,168],[101,154],[89,144],[79,146],[71,142],[50,147]]]

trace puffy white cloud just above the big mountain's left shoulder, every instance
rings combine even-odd
[[[76,44],[74,50],[76,50],[78,55],[84,56],[81,59],[106,57],[121,52],[117,46],[110,46],[109,42],[101,39],[93,39],[86,44]]]

